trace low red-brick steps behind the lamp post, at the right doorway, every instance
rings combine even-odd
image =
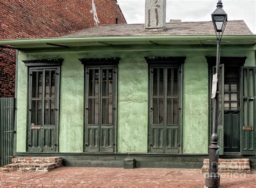
[[[204,159],[202,173],[209,170],[209,159]],[[250,161],[248,158],[241,159],[219,159],[219,173],[251,173]]]

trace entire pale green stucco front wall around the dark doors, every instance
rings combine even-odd
[[[118,65],[117,151],[147,152],[148,65],[146,56],[185,56],[183,70],[183,153],[207,154],[208,65],[215,47],[121,46],[86,47],[47,52],[19,52],[17,86],[17,151],[26,148],[28,68],[22,60],[63,58],[60,73],[59,152],[83,152],[84,67],[79,58],[120,57]],[[222,48],[223,56],[246,56],[245,66],[255,66],[254,50]],[[240,47],[239,49],[242,49]]]

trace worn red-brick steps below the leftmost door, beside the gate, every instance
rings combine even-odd
[[[61,166],[62,157],[18,157],[12,158],[12,164],[5,165],[2,172],[49,172]]]

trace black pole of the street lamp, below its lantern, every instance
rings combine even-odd
[[[219,96],[219,67],[220,67],[220,39],[217,38],[217,57],[216,57],[216,74],[217,74],[217,89],[216,95],[213,99],[213,124],[212,124],[212,136],[211,144],[209,146],[209,172],[205,178],[205,186],[207,187],[219,187],[220,176],[218,174],[218,162],[219,162],[219,146],[218,146],[218,96]]]

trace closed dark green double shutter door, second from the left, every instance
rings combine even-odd
[[[85,152],[114,152],[116,67],[86,68]]]

